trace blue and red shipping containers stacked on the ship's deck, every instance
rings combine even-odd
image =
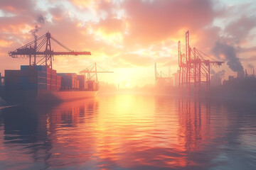
[[[96,81],[87,81],[85,75],[58,73],[46,66],[21,65],[21,70],[5,70],[6,90],[97,91]]]

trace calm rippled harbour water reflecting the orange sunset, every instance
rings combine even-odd
[[[0,101],[0,169],[256,169],[256,104],[97,96]]]

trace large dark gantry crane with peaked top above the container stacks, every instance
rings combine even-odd
[[[53,40],[58,45],[63,47],[65,52],[54,52],[52,50],[50,40]],[[32,46],[33,45],[33,46]],[[44,51],[40,51],[42,47],[46,45]],[[41,36],[40,38],[37,38],[36,40],[33,40],[32,42],[29,42],[26,45],[23,45],[22,47],[18,48],[17,50],[13,52],[9,52],[9,56],[13,58],[29,58],[29,65],[43,65],[50,67],[50,69],[53,68],[53,56],[54,55],[91,55],[90,52],[75,52],[73,50],[70,50],[68,47],[65,47],[62,43],[60,43],[58,40],[53,38],[52,35],[50,35],[49,32],[47,32],[45,35]],[[39,60],[36,60],[39,58]],[[33,59],[33,63],[32,60]]]

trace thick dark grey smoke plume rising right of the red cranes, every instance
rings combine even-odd
[[[225,60],[228,60],[228,67],[230,67],[233,72],[244,72],[242,64],[236,55],[235,48],[232,45],[227,45],[225,42],[215,42],[212,52],[215,57],[218,58],[220,58],[220,55],[224,55]]]

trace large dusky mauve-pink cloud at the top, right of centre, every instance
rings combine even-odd
[[[212,1],[124,1],[129,30],[127,43],[150,44],[212,23]]]

